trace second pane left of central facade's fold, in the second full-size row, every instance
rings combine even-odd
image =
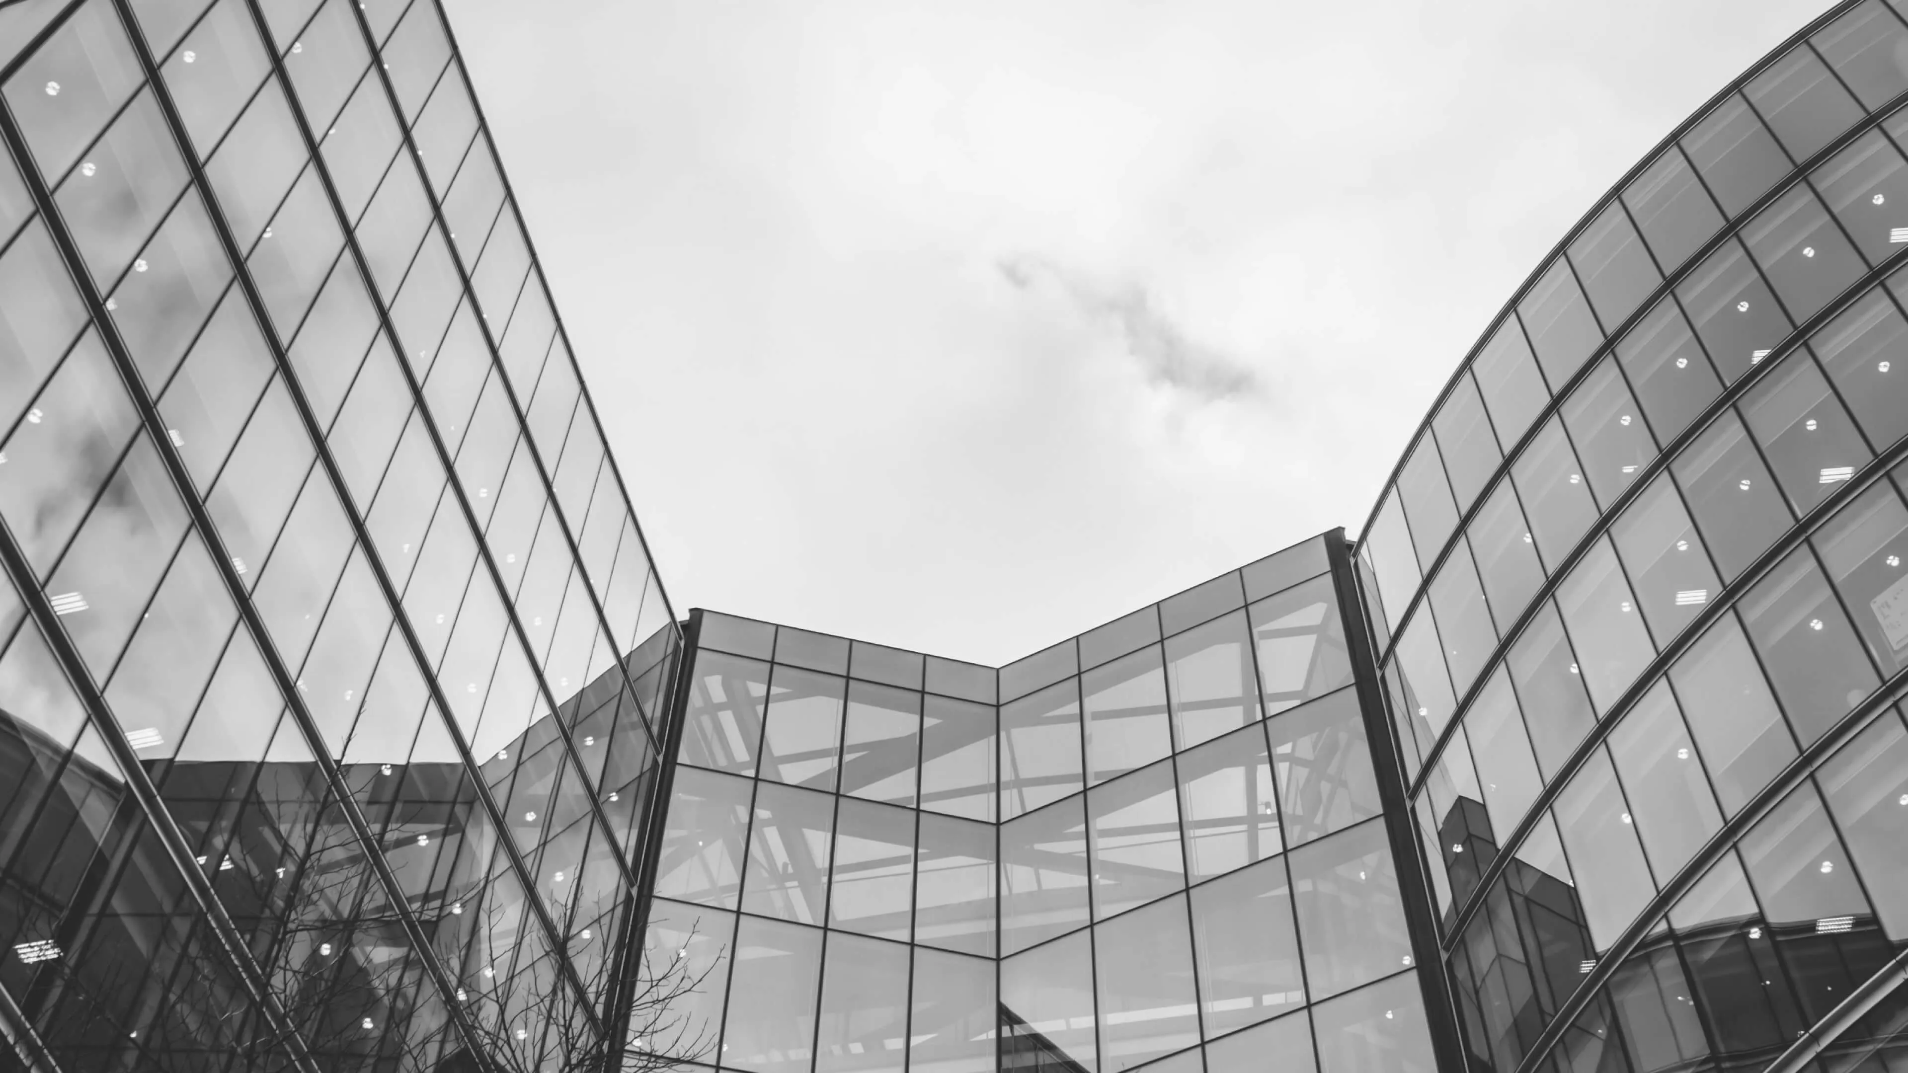
[[[828,888],[830,926],[906,941],[912,901],[914,810],[843,798]]]

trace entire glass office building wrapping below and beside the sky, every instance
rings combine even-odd
[[[1332,531],[672,609],[437,0],[0,0],[0,1067],[1908,1069],[1908,0]]]

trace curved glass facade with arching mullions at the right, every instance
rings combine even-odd
[[[1904,13],[1618,183],[1358,542],[1473,1071],[1900,1062]]]

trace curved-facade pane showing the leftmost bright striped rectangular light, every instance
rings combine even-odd
[[[1668,475],[1658,475],[1631,500],[1610,525],[1610,538],[1637,590],[1643,619],[1664,643],[1696,621],[1723,586]]]

